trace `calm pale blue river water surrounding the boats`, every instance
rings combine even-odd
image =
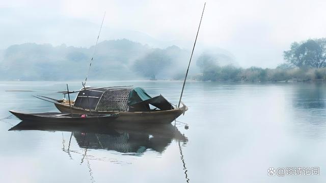
[[[177,103],[181,82],[135,85]],[[80,82],[69,82],[79,89]],[[62,98],[64,82],[0,82],[8,110],[57,111],[32,95]],[[5,89],[47,89],[4,92]],[[188,82],[189,107],[163,127],[74,128],[0,121],[3,182],[325,182],[326,84]],[[189,129],[184,128],[186,123]],[[175,126],[176,128],[175,128]],[[16,126],[16,127],[14,127]],[[24,127],[24,126],[27,126]],[[16,130],[8,131],[14,128]],[[29,129],[29,130],[27,130]],[[320,175],[268,176],[269,167],[320,167]]]

